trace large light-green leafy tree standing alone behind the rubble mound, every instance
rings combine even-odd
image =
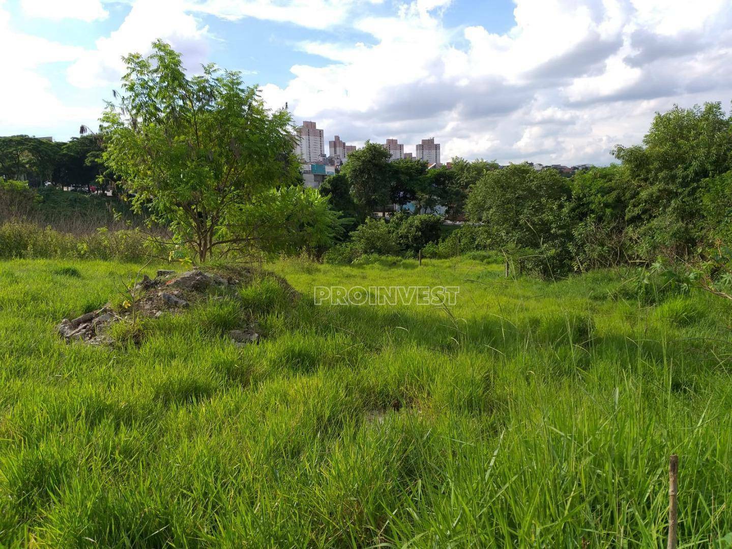
[[[267,110],[238,72],[209,64],[187,77],[165,42],[124,61],[122,94],[102,117],[103,159],[135,208],[201,261],[248,238],[239,208],[298,176],[289,114]]]

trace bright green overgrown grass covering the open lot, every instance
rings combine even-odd
[[[0,264],[0,545],[657,546],[671,453],[680,545],[732,531],[722,300],[468,260],[272,268],[299,303],[264,279],[91,347],[54,326],[138,265]],[[460,294],[314,306],[316,285]],[[252,314],[266,337],[235,347]]]

